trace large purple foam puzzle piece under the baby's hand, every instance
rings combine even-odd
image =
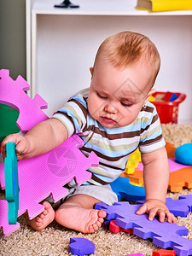
[[[107,212],[106,218],[116,219],[116,224],[121,228],[133,229],[133,234],[143,239],[151,238],[159,247],[171,247],[179,256],[187,256],[192,253],[192,240],[182,236],[188,235],[188,230],[183,226],[172,223],[160,223],[156,218],[148,220],[148,215],[137,215],[135,212],[140,205],[130,205],[127,201],[114,203],[108,206],[105,203],[97,203],[96,209]]]

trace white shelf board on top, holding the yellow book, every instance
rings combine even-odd
[[[167,11],[148,12],[135,9],[137,0],[72,0],[72,3],[79,4],[77,9],[55,8],[54,4],[62,0],[35,0],[32,12],[37,15],[136,15],[136,16],[159,16],[159,15],[192,15],[192,11]]]

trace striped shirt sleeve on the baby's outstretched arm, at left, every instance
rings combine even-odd
[[[84,130],[87,123],[87,102],[83,96],[71,97],[65,106],[52,118],[59,119],[66,126],[68,137]]]

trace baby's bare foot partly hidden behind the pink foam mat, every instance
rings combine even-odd
[[[41,231],[46,228],[55,218],[55,211],[48,201],[43,202],[44,212],[40,213],[36,218],[30,220],[27,214],[24,215],[26,222],[32,227],[33,230]]]

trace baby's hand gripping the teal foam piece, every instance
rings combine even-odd
[[[23,137],[20,134],[10,134],[8,137],[5,137],[1,143],[1,152],[3,158],[6,157],[7,143],[15,143],[17,160],[28,158],[28,154],[30,152],[30,142],[26,137]]]

